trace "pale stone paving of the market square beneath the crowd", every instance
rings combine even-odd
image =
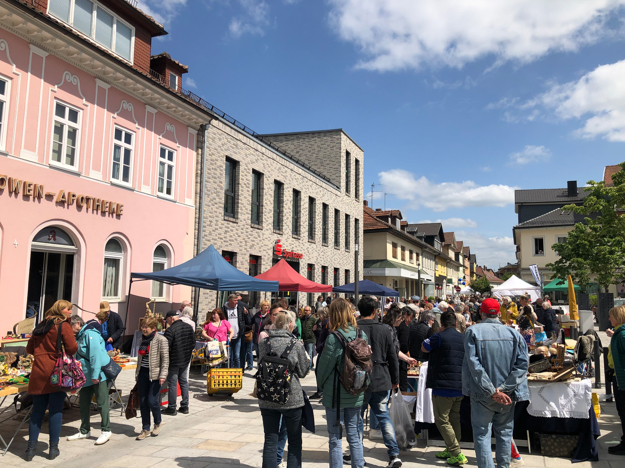
[[[607,343],[604,341],[604,343]],[[194,373],[193,373],[194,372]],[[190,376],[189,414],[163,416],[163,429],[158,437],[148,437],[136,441],[141,430],[141,419],[127,420],[120,416],[119,410],[111,412],[111,431],[113,437],[103,446],[94,446],[99,436],[99,416],[93,411],[91,419],[92,438],[83,441],[68,442],[65,437],[78,431],[80,416],[78,408],[67,409],[63,414],[63,430],[59,448],[61,456],[54,461],[46,458],[47,422],[44,422],[39,437],[37,456],[26,463],[22,454],[26,449],[27,426],[19,431],[10,451],[0,459],[2,467],[24,466],[29,468],[62,467],[123,467],[123,468],[204,468],[237,466],[240,468],[261,467],[262,463],[262,419],[256,399],[249,396],[254,387],[251,373],[244,377],[244,387],[233,397],[206,394],[206,378],[195,368]],[[134,370],[122,371],[119,375],[118,388],[123,396],[134,386]],[[303,380],[302,386],[308,394],[316,390],[314,374]],[[603,389],[599,389],[602,393]],[[12,397],[5,402],[8,404]],[[625,457],[607,453],[610,444],[617,443],[621,435],[621,426],[616,415],[614,403],[602,402],[602,414],[599,419],[601,437],[599,438],[599,462],[582,462],[576,468],[622,468]],[[327,431],[325,412],[321,405],[313,405],[316,422],[316,434],[303,431],[303,466],[316,468],[328,465]],[[13,411],[12,409],[9,411]],[[0,427],[0,434],[6,437],[15,429],[18,421],[9,420]],[[10,437],[10,436],[9,436]],[[365,459],[368,467],[384,467],[387,464],[386,447],[365,440]],[[343,440],[343,447],[347,442]],[[440,466],[444,461],[436,459],[434,452],[438,447],[426,447],[419,441],[409,452],[400,454],[404,467]],[[465,450],[469,459],[468,467],[475,467],[475,452]],[[542,457],[527,454],[521,449],[521,455],[527,467],[559,468],[571,465],[568,459]],[[285,456],[286,459],[286,456]]]

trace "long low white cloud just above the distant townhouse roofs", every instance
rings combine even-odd
[[[430,208],[442,212],[449,208],[505,207],[514,203],[514,189],[508,185],[482,185],[472,180],[434,183],[426,177],[414,178],[404,169],[392,169],[378,174],[380,182],[393,187],[396,197],[408,200],[412,209]]]

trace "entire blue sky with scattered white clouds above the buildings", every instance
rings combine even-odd
[[[342,128],[365,194],[514,262],[514,188],[625,160],[625,0],[140,0],[183,86],[259,133]]]

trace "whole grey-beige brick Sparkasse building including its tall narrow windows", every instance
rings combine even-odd
[[[354,281],[364,167],[356,142],[341,129],[258,135],[225,117],[212,120],[204,138],[207,157],[197,161],[204,173],[200,169],[196,181],[205,185],[196,215],[196,222],[203,220],[196,227],[196,238],[202,230],[201,249],[214,245],[251,276],[284,258],[317,283]],[[296,293],[280,295],[296,299]],[[221,306],[224,296],[202,290],[200,317]],[[316,296],[301,293],[299,302],[312,304]],[[253,308],[265,297],[271,294],[251,292],[247,300]]]

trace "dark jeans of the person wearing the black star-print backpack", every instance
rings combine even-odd
[[[268,409],[261,408],[262,429],[265,442],[262,447],[262,468],[277,468],[277,446],[279,427],[286,427],[289,439],[287,468],[299,468],[302,464],[302,408]],[[282,422],[281,422],[282,419]]]

